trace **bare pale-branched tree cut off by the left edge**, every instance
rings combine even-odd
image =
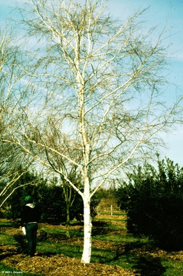
[[[19,68],[22,63],[13,33],[7,28],[0,30],[0,207],[19,188],[17,181],[33,161],[17,144],[6,143],[15,129],[14,111],[23,119],[26,86],[22,79],[26,73]]]

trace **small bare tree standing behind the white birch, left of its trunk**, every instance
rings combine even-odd
[[[69,179],[70,182],[72,182],[75,187],[80,188],[80,190],[83,188],[81,184],[81,175],[78,170],[78,166],[75,164],[70,164],[66,159],[64,159],[61,155],[57,155],[57,152],[59,151],[62,153],[62,155],[65,154],[65,152],[69,152],[70,159],[79,159],[79,148],[75,141],[70,139],[70,137],[63,135],[60,132],[61,126],[59,127],[59,123],[55,122],[55,120],[50,117],[50,120],[48,120],[48,124],[46,126],[45,130],[42,130],[42,133],[39,132],[39,137],[41,141],[44,141],[46,145],[51,145],[52,148],[55,149],[55,151],[50,151],[45,147],[45,154],[46,159],[48,163],[51,166],[51,170],[55,170],[56,174],[59,177],[59,180],[57,181],[60,183],[61,188],[63,189],[65,203],[66,203],[66,235],[69,237],[69,226],[70,226],[70,210],[73,206],[73,202],[76,204],[76,191],[73,189],[72,186],[69,185],[68,181],[64,179],[64,175],[66,175],[67,179]],[[69,149],[69,150],[68,150]],[[81,150],[80,150],[80,158],[81,158]],[[61,172],[61,173],[59,173]],[[72,214],[77,214],[77,206],[72,208]],[[81,211],[81,214],[83,211]],[[75,217],[75,215],[71,217]],[[79,217],[77,215],[77,217]],[[72,218],[73,219],[73,218]],[[71,220],[72,220],[71,219]]]

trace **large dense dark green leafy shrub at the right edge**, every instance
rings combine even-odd
[[[166,250],[182,250],[182,176],[183,168],[170,159],[158,159],[157,169],[145,164],[129,173],[116,193],[128,230],[153,237]]]

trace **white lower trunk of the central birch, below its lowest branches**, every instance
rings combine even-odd
[[[90,217],[90,201],[84,199],[84,250],[81,262],[84,264],[90,263],[92,249],[92,223]]]

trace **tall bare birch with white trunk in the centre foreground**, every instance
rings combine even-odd
[[[178,121],[178,103],[167,106],[162,97],[166,51],[161,35],[154,41],[153,29],[146,31],[140,15],[115,20],[100,0],[30,0],[23,12],[28,36],[40,46],[35,62],[23,69],[39,101],[26,106],[26,127],[18,118],[9,142],[52,168],[81,195],[84,264],[91,257],[91,197],[110,178],[152,157],[161,145],[158,133]],[[78,155],[46,139],[50,117],[55,135],[75,140]],[[52,153],[77,167],[84,191],[46,158]]]

